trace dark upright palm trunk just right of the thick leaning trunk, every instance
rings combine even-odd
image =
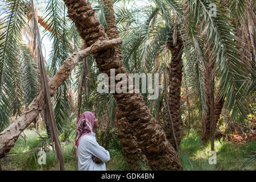
[[[171,39],[171,38],[170,38]],[[181,93],[181,80],[182,80],[182,68],[183,62],[181,59],[183,42],[177,39],[176,46],[172,44],[172,41],[168,41],[168,49],[172,53],[171,63],[169,64],[170,73],[170,90],[169,90],[169,102],[170,113],[172,121],[174,122],[175,137],[177,144],[180,144],[181,131],[183,129],[183,123],[180,118],[180,93]],[[166,137],[172,146],[177,148],[174,140],[174,133],[172,132],[172,126],[170,125],[171,118],[169,117],[168,111],[166,114],[166,122],[164,123],[164,129],[166,131]]]

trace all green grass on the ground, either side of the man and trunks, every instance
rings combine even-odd
[[[57,159],[53,151],[46,152],[46,165],[40,166],[37,158],[33,158],[33,152],[30,147],[33,142],[39,138],[32,130],[25,130],[26,144],[24,138],[19,137],[10,154],[0,159],[3,170],[57,170]],[[114,135],[115,136],[115,135]],[[116,136],[115,136],[116,137]],[[217,164],[210,165],[208,159],[210,157],[210,143],[203,143],[200,134],[192,132],[189,137],[181,140],[181,158],[180,161],[186,171],[197,170],[241,170],[242,164],[246,161],[246,156],[253,154],[256,148],[256,142],[246,142],[242,145],[226,142],[215,141],[215,151],[217,153]],[[117,146],[117,147],[114,147]],[[75,158],[72,153],[73,141],[62,145],[65,169],[75,170]],[[106,163],[106,169],[112,170],[130,170],[118,143],[110,144],[110,162]],[[242,170],[255,170],[255,161],[250,163]],[[145,170],[145,168],[142,168]]]

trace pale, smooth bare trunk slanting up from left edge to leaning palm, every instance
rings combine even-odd
[[[72,69],[78,63],[79,60],[91,53],[98,52],[102,49],[108,49],[121,44],[122,39],[104,40],[102,42],[96,42],[93,46],[86,49],[76,51],[68,57],[61,65],[59,71],[52,77],[48,85],[50,88],[51,97],[55,93],[56,89],[67,79]],[[11,125],[0,133],[0,158],[3,158],[14,147],[16,140],[24,129],[38,116],[43,109],[43,95],[42,92],[34,98],[30,105],[23,111],[19,118],[11,122]]]

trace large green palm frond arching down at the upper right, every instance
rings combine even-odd
[[[245,115],[244,84],[246,76],[243,76],[243,64],[239,59],[237,45],[234,42],[234,28],[228,12],[220,3],[212,1],[216,5],[216,17],[209,13],[209,2],[189,1],[188,32],[191,39],[195,40],[196,26],[200,24],[201,34],[206,34],[208,45],[214,44],[216,67],[221,77],[222,96],[227,97],[226,106],[232,111],[232,117]],[[194,45],[195,46],[195,45]],[[209,49],[206,48],[206,49]]]

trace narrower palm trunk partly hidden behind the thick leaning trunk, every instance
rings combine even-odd
[[[117,23],[115,22],[114,8],[112,0],[102,0],[104,3],[104,13],[106,19],[106,34],[109,39],[114,39],[119,37]],[[121,62],[121,45],[114,47],[116,56]],[[117,108],[117,110],[119,110]],[[132,127],[129,122],[127,122],[127,127],[123,128],[120,120],[115,119],[115,125],[118,130],[118,137],[123,146],[122,151],[126,156],[127,162],[131,170],[136,171],[142,169],[142,167],[147,167],[147,159],[143,154],[141,148],[138,147],[137,138],[133,135]]]

